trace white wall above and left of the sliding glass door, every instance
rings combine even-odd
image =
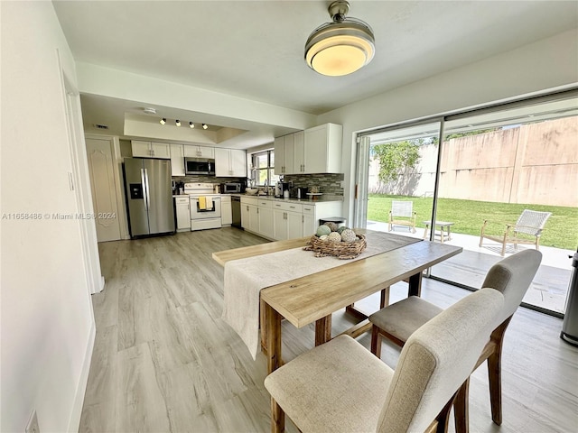
[[[353,216],[356,132],[578,85],[578,29],[320,115],[343,125],[344,209]]]

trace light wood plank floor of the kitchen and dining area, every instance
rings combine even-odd
[[[266,359],[253,361],[220,319],[223,270],[214,251],[260,244],[236,228],[99,245],[105,290],[93,295],[97,336],[81,432],[267,432]],[[267,270],[264,269],[263,272]],[[405,287],[392,289],[392,301]],[[423,297],[447,307],[468,294],[424,281]],[[375,310],[378,297],[360,304]],[[334,333],[351,325],[333,315]],[[489,415],[485,364],[471,381],[472,432],[575,432],[578,349],[565,344],[562,320],[519,309],[505,338],[504,423]],[[284,359],[312,348],[313,329],[284,323]],[[359,343],[369,347],[369,336]],[[398,352],[384,345],[395,367]],[[296,431],[287,422],[289,431]]]

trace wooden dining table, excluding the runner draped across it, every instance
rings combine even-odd
[[[212,256],[224,266],[230,260],[305,246],[310,237],[237,248],[213,253]],[[266,349],[268,373],[274,372],[283,364],[282,319],[288,320],[295,327],[305,327],[314,322],[315,345],[322,345],[331,339],[332,313],[345,308],[359,319],[367,318],[355,309],[355,302],[378,291],[384,293],[399,281],[408,281],[408,296],[420,296],[424,270],[461,251],[459,246],[420,240],[328,271],[316,272],[262,289],[261,308],[265,311],[261,312],[261,326],[264,328],[263,345]],[[359,332],[369,329],[370,324],[362,323],[346,333],[357,336]],[[283,411],[275,401],[272,402],[272,422],[274,430],[283,430]]]

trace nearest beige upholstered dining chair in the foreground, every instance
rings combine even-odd
[[[461,299],[407,340],[395,371],[338,336],[266,377],[272,409],[278,404],[304,433],[443,430],[502,309],[497,290]]]

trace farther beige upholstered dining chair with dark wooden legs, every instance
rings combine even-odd
[[[501,409],[501,353],[503,337],[508,324],[517,307],[524,298],[530,283],[536,275],[542,260],[542,253],[535,250],[526,250],[513,254],[499,263],[494,264],[486,275],[482,287],[493,288],[504,294],[504,307],[499,317],[493,323],[493,332],[489,342],[481,352],[476,368],[486,359],[488,360],[489,397],[491,401],[492,419],[498,425],[502,422]],[[428,320],[436,317],[443,309],[430,302],[412,296],[400,300],[377,313],[369,316],[373,324],[371,335],[371,352],[380,357],[381,337],[405,345],[408,338]],[[467,431],[468,383],[464,384],[465,395],[455,408],[456,430]]]

